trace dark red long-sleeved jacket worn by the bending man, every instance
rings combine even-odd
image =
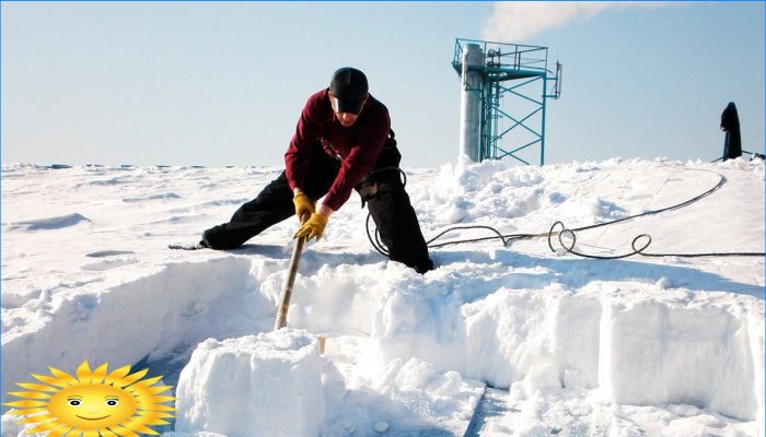
[[[372,96],[353,126],[345,128],[335,118],[328,91],[320,91],[309,97],[285,153],[290,188],[302,188],[307,168],[315,165],[311,156],[322,147],[328,155],[343,158],[340,172],[323,202],[337,211],[351,196],[353,186],[372,170],[390,131],[388,109]]]

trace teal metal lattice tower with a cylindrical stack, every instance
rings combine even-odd
[[[457,38],[452,67],[462,84],[460,153],[545,164],[545,104],[561,94],[561,64],[548,69],[548,48]]]

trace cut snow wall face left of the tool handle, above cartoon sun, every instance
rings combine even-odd
[[[74,368],[83,359],[114,365],[183,359],[208,338],[266,329],[258,321],[272,303],[257,292],[249,269],[248,260],[233,257],[169,263],[106,290],[36,303],[43,323],[3,332],[3,402],[13,382],[28,380],[32,369]]]

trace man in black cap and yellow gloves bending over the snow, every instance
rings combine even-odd
[[[306,217],[293,238],[318,240],[356,188],[391,259],[419,273],[432,270],[401,179],[401,158],[388,109],[370,95],[364,73],[341,68],[329,87],[312,95],[303,108],[285,153],[285,172],[240,206],[229,223],[205,231],[200,245],[233,249],[293,213],[299,220]]]

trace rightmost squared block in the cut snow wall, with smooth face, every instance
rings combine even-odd
[[[600,386],[620,404],[689,404],[742,421],[758,409],[747,328],[726,308],[613,304]]]

